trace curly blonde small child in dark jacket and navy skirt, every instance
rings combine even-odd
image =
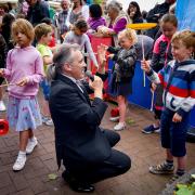
[[[127,98],[132,93],[132,78],[134,76],[136,61],[136,32],[133,29],[125,29],[118,34],[119,48],[107,49],[108,55],[115,64],[112,73],[110,92],[117,96],[119,107],[119,123],[114,127],[115,131],[126,128]],[[116,118],[115,118],[116,119]],[[112,119],[110,119],[112,120]]]

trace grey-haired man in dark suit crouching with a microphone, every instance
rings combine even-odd
[[[119,134],[99,126],[107,108],[102,100],[103,81],[94,76],[82,84],[86,63],[77,44],[63,44],[49,68],[53,79],[50,110],[55,127],[57,164],[65,166],[62,177],[77,192],[92,192],[94,182],[122,174],[130,169],[130,158],[112,148]],[[90,103],[87,91],[94,91]]]

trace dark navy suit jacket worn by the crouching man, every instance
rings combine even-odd
[[[99,127],[107,108],[101,99],[95,98],[91,104],[73,80],[57,75],[51,84],[49,105],[58,166],[61,159],[96,164],[109,157],[110,146]]]

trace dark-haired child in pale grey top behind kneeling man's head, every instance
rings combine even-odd
[[[91,48],[91,42],[89,37],[86,35],[88,30],[88,24],[83,20],[78,20],[75,24],[73,29],[66,34],[64,43],[77,43],[80,46],[81,50],[84,51],[84,48],[87,52],[89,53],[89,57],[93,62],[94,66],[98,68],[99,64],[96,61],[96,57],[93,53],[93,50]]]

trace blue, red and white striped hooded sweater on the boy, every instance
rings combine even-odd
[[[195,105],[195,61],[171,61],[158,74],[147,74],[151,81],[164,87],[164,106],[184,116]]]

